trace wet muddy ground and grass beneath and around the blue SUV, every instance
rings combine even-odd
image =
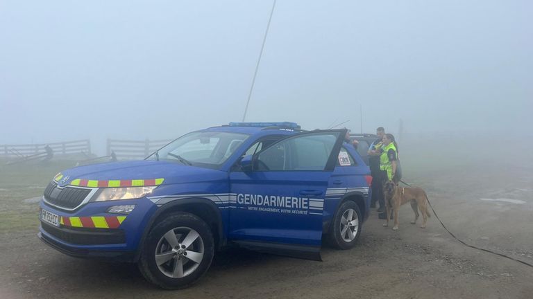
[[[418,167],[404,177],[428,191],[457,237],[533,264],[533,165],[487,159]],[[426,229],[409,224],[409,206],[400,209],[398,231],[382,227],[373,211],[359,244],[325,246],[323,262],[235,248],[219,253],[194,287],[162,291],[134,265],[78,260],[42,244],[32,220],[32,198],[42,190],[27,187],[0,185],[0,298],[533,298],[532,268],[459,244],[436,217]]]

